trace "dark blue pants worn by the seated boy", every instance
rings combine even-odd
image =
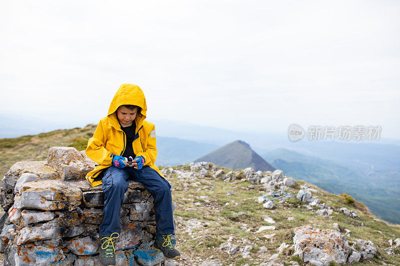
[[[128,189],[128,179],[137,181],[154,197],[155,232],[160,235],[173,234],[171,185],[154,169],[143,166],[117,168],[110,166],[104,170],[102,191],[104,192],[104,218],[99,228],[101,237],[121,232],[120,211],[124,194]]]

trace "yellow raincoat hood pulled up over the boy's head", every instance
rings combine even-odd
[[[116,91],[107,113],[107,116],[111,118],[111,124],[116,128],[120,128],[117,126],[118,120],[115,111],[119,106],[125,104],[137,105],[140,107],[140,115],[136,115],[135,118],[136,126],[140,126],[142,121],[146,118],[146,99],[144,98],[144,93],[139,86],[132,84],[122,84]]]

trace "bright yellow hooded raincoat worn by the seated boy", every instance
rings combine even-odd
[[[144,165],[148,165],[164,177],[154,165],[157,158],[155,128],[153,124],[144,121],[147,111],[144,94],[136,85],[122,84],[111,101],[107,116],[98,122],[93,137],[87,142],[86,155],[96,162],[94,169],[86,175],[92,187],[101,185],[101,172],[112,165],[112,156],[122,155],[125,150],[126,136],[118,123],[115,112],[124,104],[137,105],[141,108],[135,118],[136,134],[132,143],[135,156],[143,156]]]

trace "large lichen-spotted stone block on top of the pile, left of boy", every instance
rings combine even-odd
[[[65,181],[84,179],[94,169],[94,162],[73,147],[51,147],[48,150],[47,164]]]

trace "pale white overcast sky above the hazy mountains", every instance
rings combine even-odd
[[[395,0],[2,1],[0,112],[97,123],[132,83],[149,121],[400,139],[399,14]]]

